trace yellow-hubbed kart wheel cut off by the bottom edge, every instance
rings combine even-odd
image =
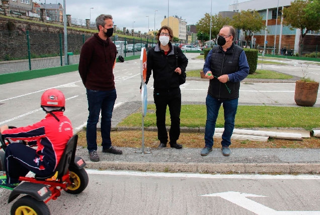
[[[11,207],[11,215],[44,215],[50,214],[46,203],[38,201],[30,195],[18,199]]]

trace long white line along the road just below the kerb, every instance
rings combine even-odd
[[[320,180],[318,175],[221,175],[221,174],[197,174],[197,173],[161,173],[161,172],[135,172],[135,171],[111,171],[86,169],[88,174],[96,175],[131,175],[150,177],[176,177],[176,178],[208,178],[208,179],[298,179]]]

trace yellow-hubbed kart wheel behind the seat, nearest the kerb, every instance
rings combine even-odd
[[[76,169],[75,167],[69,166],[69,176],[71,184],[67,187],[67,193],[78,194],[88,186],[89,177],[85,169]]]

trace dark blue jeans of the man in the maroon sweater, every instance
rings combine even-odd
[[[89,116],[87,121],[87,146],[88,151],[97,150],[97,123],[101,110],[101,136],[102,147],[111,147],[111,118],[114,103],[117,99],[116,89],[110,91],[99,91],[87,89]]]

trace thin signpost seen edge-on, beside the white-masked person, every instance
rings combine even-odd
[[[145,48],[141,48],[141,55],[140,55],[140,75],[141,75],[141,102],[142,102],[142,147],[141,151],[137,151],[136,153],[150,153],[146,152],[144,149],[144,117],[147,111],[147,88],[145,79],[146,79],[146,50]]]

